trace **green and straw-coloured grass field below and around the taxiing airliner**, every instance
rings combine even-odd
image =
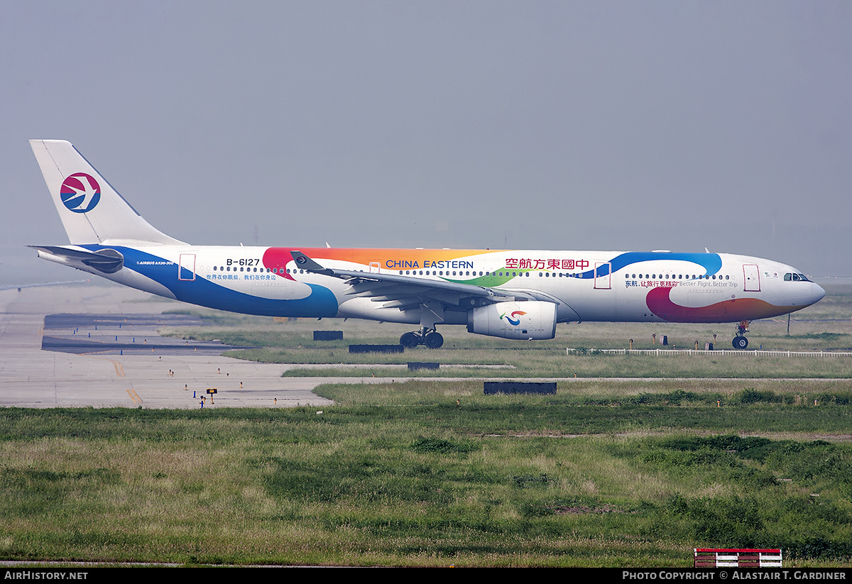
[[[754,323],[750,340],[849,348],[850,306],[840,290],[797,313],[790,336],[784,318]],[[407,329],[324,321],[346,341],[320,345],[316,322],[222,318],[179,334],[377,375],[387,356],[346,345]],[[583,323],[535,344],[447,329],[446,348],[401,361],[567,378],[548,396],[396,370],[320,386],[337,402],[323,411],[0,409],[0,558],[688,567],[694,547],[781,547],[785,566],[852,564],[850,358],[565,351],[653,347],[652,334],[729,342],[729,329]]]

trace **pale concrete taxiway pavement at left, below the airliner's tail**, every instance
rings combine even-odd
[[[337,380],[285,378],[287,365],[219,357],[223,347],[214,343],[160,337],[156,329],[170,318],[162,312],[187,307],[95,282],[0,291],[0,407],[191,409],[201,407],[208,387],[218,393],[205,408],[332,404],[313,389]],[[48,315],[60,316],[46,329]],[[43,341],[58,351],[43,351]]]

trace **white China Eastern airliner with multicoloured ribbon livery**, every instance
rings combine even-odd
[[[557,323],[736,323],[826,294],[792,266],[746,255],[516,249],[335,249],[191,245],[141,217],[66,140],[30,140],[70,245],[40,258],[199,306],[271,317],[409,323],[400,344],[438,348],[439,325],[505,339]]]

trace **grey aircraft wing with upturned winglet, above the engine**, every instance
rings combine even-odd
[[[368,297],[375,302],[383,302],[383,306],[388,308],[410,310],[434,301],[463,308],[505,301],[558,302],[550,296],[543,297],[544,295],[540,293],[528,290],[485,288],[468,283],[412,278],[398,274],[339,270],[320,266],[300,251],[292,251],[291,254],[296,261],[296,266],[300,269],[346,280],[350,294]]]

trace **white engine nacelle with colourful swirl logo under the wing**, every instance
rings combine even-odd
[[[468,311],[468,332],[504,339],[552,339],[556,304],[542,301],[498,302]]]

